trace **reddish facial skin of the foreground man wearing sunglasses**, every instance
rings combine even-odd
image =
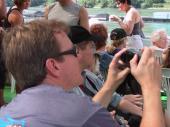
[[[57,41],[60,43],[60,52],[68,51],[72,49],[73,44],[64,32],[55,34]],[[66,89],[71,89],[76,85],[82,84],[82,76],[80,65],[77,57],[73,54],[62,55],[63,61],[60,67],[60,77],[62,78],[63,84],[67,85]]]

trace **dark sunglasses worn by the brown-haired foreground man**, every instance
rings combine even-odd
[[[74,55],[77,57],[77,54],[79,53],[78,48],[74,45],[71,49],[63,51],[57,55],[57,57],[62,56],[62,55]]]

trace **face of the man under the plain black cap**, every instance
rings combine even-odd
[[[84,49],[79,49],[79,63],[82,71],[84,69],[91,69],[94,63],[95,45],[93,41],[87,41]]]

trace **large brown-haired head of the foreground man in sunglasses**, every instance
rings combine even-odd
[[[67,30],[61,22],[40,20],[5,33],[6,67],[22,89],[41,83],[60,85],[64,89],[81,84],[77,50],[65,33]]]

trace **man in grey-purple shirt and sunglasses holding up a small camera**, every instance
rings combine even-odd
[[[24,127],[119,127],[99,104],[68,92],[82,83],[82,77],[77,58],[80,54],[64,29],[66,27],[59,22],[33,21],[5,34],[5,62],[23,91],[1,108],[0,118],[10,115],[13,119],[23,119]],[[92,45],[89,43],[89,46]],[[107,81],[93,101],[108,105],[112,93],[129,73],[129,68],[118,68],[124,52],[125,49],[113,58]],[[141,127],[164,127],[158,97],[160,67],[152,51],[146,48],[138,65],[135,56],[131,70],[144,92]],[[150,107],[151,104],[154,107]]]

